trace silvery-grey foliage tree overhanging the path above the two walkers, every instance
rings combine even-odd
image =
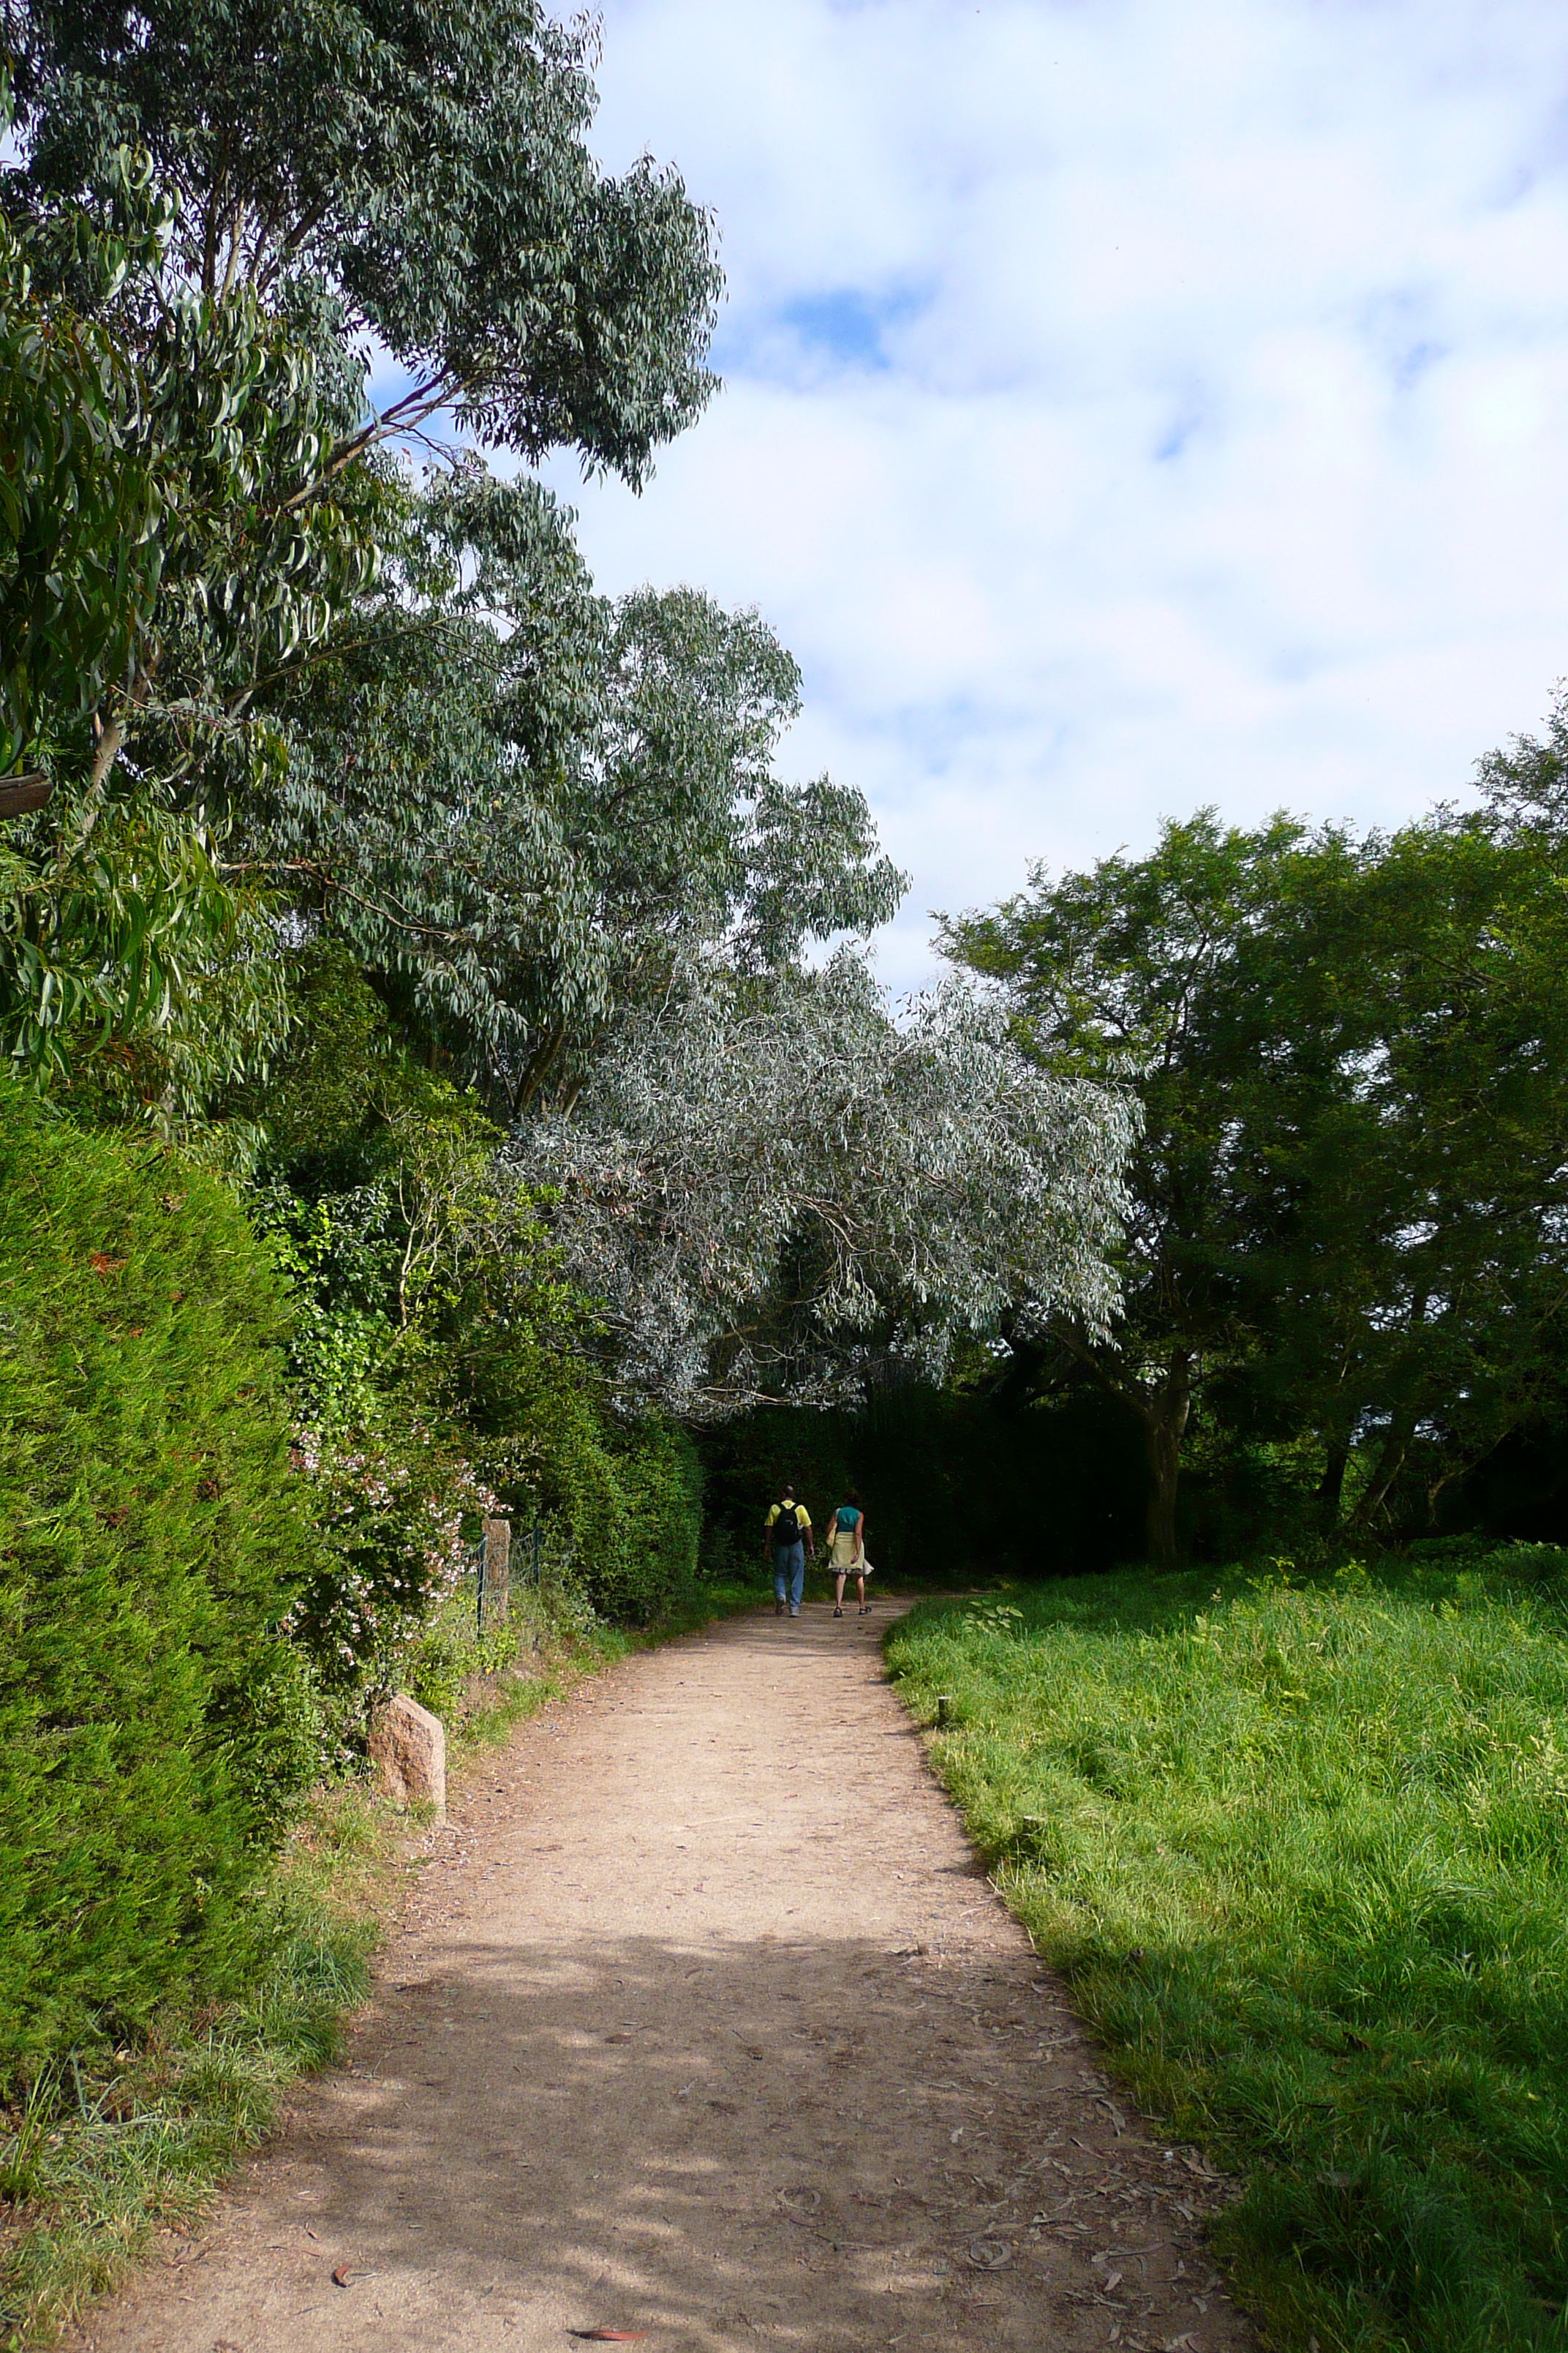
[[[860,955],[693,967],[625,1019],[517,1172],[602,1301],[628,1398],[679,1414],[830,1398],[875,1362],[940,1377],[1009,1313],[1107,1332],[1133,1113],[1056,1080],[978,991],[893,1019]]]

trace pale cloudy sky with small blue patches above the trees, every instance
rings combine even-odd
[[[797,654],[929,908],[1215,802],[1389,824],[1568,671],[1561,0],[607,0],[719,216],[724,393],[609,591]]]

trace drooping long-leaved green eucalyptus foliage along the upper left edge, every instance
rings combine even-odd
[[[40,779],[7,821],[0,1038],[59,1078],[73,1033],[125,1047],[188,1016],[200,1094],[280,1007],[188,779],[252,741],[259,673],[320,645],[374,541],[362,501],[301,496],[329,440],[313,353],[249,294],[172,285],[169,221],[127,155],[99,216],[0,219],[0,732]],[[148,734],[115,774],[132,713]],[[235,1021],[212,988],[195,1014],[202,976]]]

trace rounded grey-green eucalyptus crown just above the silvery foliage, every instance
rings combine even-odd
[[[508,1118],[571,1099],[682,958],[778,967],[898,906],[863,795],[773,772],[799,673],[769,628],[597,598],[536,482],[407,487],[327,654],[270,706],[244,856]]]

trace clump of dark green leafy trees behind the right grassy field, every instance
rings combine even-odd
[[[1213,814],[945,927],[1048,1068],[1124,1071],[1126,1318],[1051,1337],[1138,1414],[1175,1560],[1194,1412],[1319,1447],[1375,1522],[1519,1424],[1561,1351],[1563,842],[1436,812],[1394,838]]]

